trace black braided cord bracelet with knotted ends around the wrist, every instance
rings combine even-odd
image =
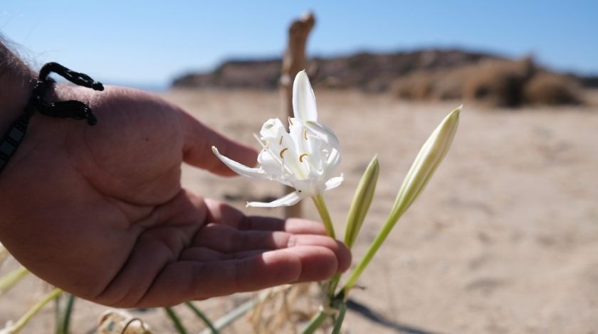
[[[27,133],[29,120],[36,109],[41,114],[51,117],[87,119],[90,126],[98,123],[98,119],[95,118],[90,107],[83,102],[68,100],[48,103],[43,100],[43,95],[46,93],[46,89],[55,83],[51,77],[48,77],[51,72],[61,75],[75,85],[88,87],[93,90],[104,90],[104,86],[100,82],[93,80],[88,75],[69,70],[58,63],[47,63],[46,65],[43,65],[39,71],[38,80],[33,88],[31,98],[29,99],[23,114],[11,124],[9,129],[4,132],[4,135],[2,136],[2,141],[0,141],[0,172],[4,170],[4,167],[9,163],[11,157],[16,152],[16,149],[21,145],[21,141],[23,141],[23,138]]]

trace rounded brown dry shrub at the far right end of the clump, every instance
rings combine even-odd
[[[538,72],[525,84],[524,98],[529,104],[579,104],[579,84],[570,77]]]

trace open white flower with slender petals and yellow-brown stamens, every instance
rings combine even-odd
[[[247,206],[278,207],[298,203],[342,183],[342,175],[332,177],[340,163],[340,143],[330,128],[318,122],[315,96],[305,71],[293,82],[294,118],[289,131],[280,119],[268,119],[256,139],[262,146],[258,168],[249,168],[219,153],[214,154],[233,171],[248,178],[273,180],[295,188],[293,193],[271,203],[250,202]]]

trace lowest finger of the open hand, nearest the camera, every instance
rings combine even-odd
[[[325,247],[293,247],[224,262],[174,262],[164,267],[135,306],[175,305],[280,284],[320,281],[338,268],[337,257]]]

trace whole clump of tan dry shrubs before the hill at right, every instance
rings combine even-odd
[[[538,70],[531,58],[484,60],[458,68],[418,70],[395,80],[402,99],[469,99],[492,107],[576,104],[579,85],[565,75]]]

